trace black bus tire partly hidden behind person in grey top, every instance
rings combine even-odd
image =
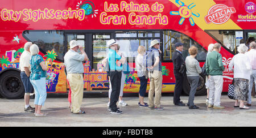
[[[184,76],[183,92],[189,95],[190,89],[191,87],[190,87],[190,84],[188,83],[187,76]],[[205,76],[200,75],[195,96],[205,96],[206,94],[207,94],[207,89],[205,88]]]

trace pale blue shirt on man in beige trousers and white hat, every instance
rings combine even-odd
[[[64,64],[69,74],[83,74],[84,65],[84,55],[77,53],[76,51],[70,49],[64,56]]]

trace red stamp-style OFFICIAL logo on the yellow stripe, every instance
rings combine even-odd
[[[223,24],[230,19],[231,14],[236,13],[234,7],[228,7],[226,5],[214,5],[210,7],[207,16],[205,16],[205,22],[210,24]]]

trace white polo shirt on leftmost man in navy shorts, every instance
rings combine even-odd
[[[30,59],[31,59],[31,54],[28,51],[24,50],[19,58],[20,71],[25,71],[24,67],[30,68]]]

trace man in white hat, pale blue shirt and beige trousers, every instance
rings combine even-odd
[[[84,66],[82,61],[88,60],[84,48],[78,44],[76,40],[69,42],[70,49],[64,56],[64,64],[67,70],[67,78],[71,88],[71,113],[85,114],[85,111],[80,109],[84,93]],[[78,53],[80,49],[82,54]]]

